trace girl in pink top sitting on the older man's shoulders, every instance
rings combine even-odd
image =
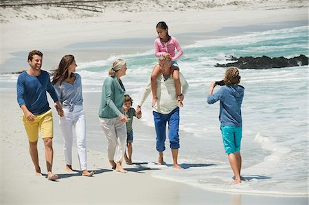
[[[165,56],[166,58],[172,60],[171,74],[175,82],[176,95],[179,99],[179,107],[183,107],[181,102],[181,83],[179,80],[179,66],[176,60],[183,55],[183,49],[179,45],[176,38],[168,34],[168,25],[164,21],[160,21],[157,26],[158,38],[155,40],[155,55],[157,58],[160,56]],[[175,55],[175,49],[177,53]],[[156,64],[151,73],[151,88],[152,88],[152,106],[155,106],[157,97],[157,77],[161,73],[159,64]]]

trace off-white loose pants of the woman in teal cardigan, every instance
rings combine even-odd
[[[115,159],[116,162],[122,162],[126,151],[126,123],[118,118],[100,118],[100,124],[108,141],[108,160]]]

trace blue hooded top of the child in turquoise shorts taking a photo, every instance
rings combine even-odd
[[[242,127],[242,99],[244,98],[244,87],[227,85],[214,95],[208,95],[207,103],[214,104],[220,100],[219,120],[221,126]]]

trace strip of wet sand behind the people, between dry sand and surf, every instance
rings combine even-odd
[[[284,29],[284,28],[292,28],[292,27],[301,27],[308,25],[308,20],[300,20],[300,21],[279,21],[275,23],[264,23],[263,25],[259,24],[252,24],[252,25],[245,25],[240,27],[222,27],[214,32],[207,32],[207,33],[180,33],[175,34],[174,36],[182,42],[182,47],[185,48],[188,45],[192,45],[198,40],[209,40],[209,39],[220,39],[220,38],[227,38],[230,36],[238,36],[244,33],[252,33],[252,32],[266,32],[268,30],[273,29]],[[258,27],[258,28],[257,28]],[[187,40],[190,38],[190,40]],[[81,42],[81,43],[73,43],[71,45],[67,45],[65,47],[60,48],[63,50],[71,49],[71,53],[75,54],[74,56],[87,56],[89,52],[96,52],[100,53],[99,56],[95,56],[96,60],[90,60],[88,62],[95,62],[98,60],[106,60],[111,58],[111,56],[122,56],[122,55],[135,55],[137,53],[145,53],[147,51],[151,51],[153,49],[153,41],[155,38],[122,38],[122,39],[111,39],[106,41],[99,41],[99,42]],[[137,40],[141,41],[137,43]],[[111,48],[111,45],[117,45],[116,47]],[[132,49],[133,47],[135,49]],[[128,49],[130,47],[130,49]],[[113,50],[115,52],[110,53]],[[25,61],[22,58],[27,56],[28,51],[16,51],[16,56],[14,58],[10,58],[5,60],[2,64],[0,64],[1,71],[0,74],[14,74],[14,72],[21,72],[20,71],[12,71],[12,72],[3,72],[2,69],[8,70],[12,68],[12,60],[16,60],[17,62]],[[11,54],[14,54],[11,53]],[[46,71],[52,71],[56,68],[56,62],[52,62],[50,59],[49,51],[45,52],[47,54],[44,55],[44,60],[47,58],[47,62],[45,61],[44,64],[50,65],[54,64],[53,67],[49,69],[45,69]],[[306,54],[304,54],[306,56]],[[47,57],[45,57],[47,56]],[[84,59],[84,58],[80,58]],[[84,63],[84,61],[79,60],[80,63]],[[26,64],[26,61],[24,62]],[[13,63],[14,65],[14,63]],[[48,66],[47,66],[48,67]]]

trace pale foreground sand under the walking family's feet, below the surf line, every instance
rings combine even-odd
[[[16,102],[14,103],[14,93],[5,92],[2,89],[0,91],[4,99],[4,101],[1,100],[1,106],[7,108],[1,111],[1,150],[3,153],[1,157],[1,204],[256,204],[255,202],[261,204],[305,204],[308,202],[308,197],[297,195],[209,191],[198,186],[153,177],[153,171],[172,168],[163,165],[148,165],[148,162],[135,162],[133,165],[124,163],[124,168],[129,172],[126,174],[117,173],[108,164],[107,154],[104,153],[106,150],[97,152],[89,148],[87,149],[88,169],[96,173],[93,178],[82,177],[78,171],[78,157],[74,144],[73,169],[77,169],[77,171],[67,173],[62,145],[55,143],[55,138],[62,141],[62,136],[56,133],[54,134],[53,172],[58,174],[59,179],[50,182],[45,178],[46,174],[43,177],[34,176],[34,167],[27,150],[27,136],[20,118],[22,111],[16,106]],[[5,119],[10,114],[12,115],[11,119]],[[56,117],[55,110],[53,110],[53,115],[54,121],[56,121],[58,117]],[[13,125],[10,121],[16,121],[16,123]],[[143,130],[144,133],[154,133],[154,129],[140,121],[136,120],[133,125],[136,132]],[[54,124],[54,131],[56,130],[60,131],[58,125]],[[104,138],[103,132],[100,134]],[[103,141],[106,144],[105,140],[104,138]],[[40,165],[42,172],[46,173],[44,150],[43,142],[39,141]],[[170,149],[167,149],[166,152],[170,152]],[[157,153],[154,153],[154,156],[157,156]],[[18,160],[12,160],[14,158],[18,158]],[[169,162],[171,158],[165,160]],[[119,182],[121,182],[121,186],[119,186]],[[163,187],[164,192],[161,191]],[[122,193],[122,197],[115,198],[116,193],[113,193],[113,190],[116,189],[117,193]],[[50,195],[58,197],[46,197],[44,194],[32,197],[31,193],[41,193],[42,190],[49,190]],[[84,196],[84,193],[87,193],[87,197]],[[74,195],[74,197],[67,197],[69,195]],[[160,197],[157,197],[158,195]]]

